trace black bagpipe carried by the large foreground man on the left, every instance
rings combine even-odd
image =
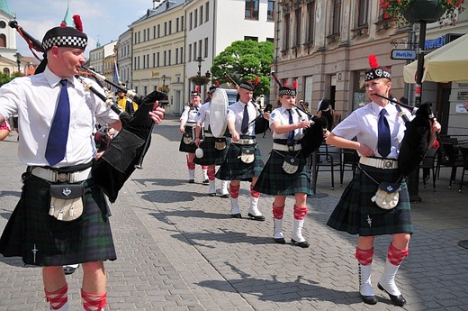
[[[9,25],[15,28],[28,42],[30,49],[45,53],[40,41],[34,39],[29,33],[25,32],[23,27],[19,26],[16,21],[10,21]],[[42,64],[45,68],[46,63],[41,61],[41,65]],[[98,160],[95,160],[93,164],[94,181],[103,189],[103,192],[113,203],[117,199],[120,189],[130,177],[131,173],[135,169],[142,169],[143,159],[148,151],[151,142],[151,133],[155,125],[149,116],[149,112],[155,110],[159,103],[167,103],[167,96],[165,93],[156,90],[149,93],[147,96],[138,96],[124,87],[115,85],[91,69],[82,68],[85,69],[85,72],[76,75],[75,78],[82,83],[86,91],[90,91],[95,96],[99,97],[113,112],[118,114],[122,123],[121,131],[105,148],[103,155]],[[38,70],[36,70],[36,74],[37,73]],[[103,89],[105,95],[101,93],[97,86],[94,87],[95,84],[92,83],[93,80],[84,78],[84,76],[89,76],[88,73],[94,78],[96,84]],[[138,101],[139,108],[135,114],[130,115],[123,111],[121,106],[115,103],[111,92],[104,87],[103,82],[112,85],[112,87],[119,88],[128,96],[131,96],[133,100]]]

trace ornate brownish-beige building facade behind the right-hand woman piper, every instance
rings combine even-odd
[[[368,102],[364,72],[369,68],[368,55],[374,54],[380,65],[392,71],[392,96],[405,96],[414,104],[414,86],[403,79],[403,67],[410,59],[393,59],[392,50],[418,50],[417,26],[399,27],[384,19],[379,1],[284,0],[276,10],[272,69],[290,85],[297,81],[298,97],[312,112],[319,109],[320,99],[329,98],[346,117]],[[463,34],[467,27],[465,14],[461,14],[455,27],[428,24],[426,37],[434,41],[448,32]],[[421,101],[435,104],[437,115],[445,119],[446,133],[466,133],[459,115],[452,115],[459,103],[453,102],[455,92],[450,90],[458,87],[455,83],[423,84]],[[271,95],[277,96],[274,85]]]

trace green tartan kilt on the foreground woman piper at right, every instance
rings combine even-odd
[[[413,233],[410,196],[405,179],[401,181],[400,201],[395,208],[385,210],[371,201],[378,187],[375,181],[397,182],[401,178],[399,169],[376,169],[362,164],[359,167],[327,224],[339,231],[362,236]],[[375,181],[366,176],[363,169]]]

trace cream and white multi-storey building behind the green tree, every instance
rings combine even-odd
[[[118,57],[120,75],[129,77],[139,95],[164,89],[169,96],[166,112],[180,114],[197,87],[191,77],[211,77],[212,60],[232,41],[274,40],[274,10],[271,0],[154,2],[130,24],[131,46],[124,48],[127,43],[119,38],[119,53],[128,49],[125,55],[131,58],[127,72],[124,56]],[[204,93],[209,84],[198,87]]]

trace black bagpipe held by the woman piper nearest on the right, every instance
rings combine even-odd
[[[403,176],[408,176],[410,173],[419,167],[419,163],[424,159],[426,152],[431,147],[429,146],[432,122],[434,121],[434,113],[432,112],[432,103],[424,102],[419,107],[404,105],[398,101],[375,94],[383,99],[388,100],[397,108],[399,115],[405,122],[406,130],[403,140],[401,141],[400,154],[398,156],[398,167]],[[408,115],[401,109],[404,107],[410,110],[415,117],[410,120]],[[438,140],[437,134],[437,140]],[[442,144],[439,147],[441,160],[446,161],[448,157]]]

